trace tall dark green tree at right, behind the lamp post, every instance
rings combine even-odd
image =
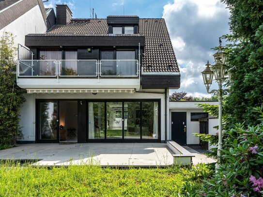
[[[226,99],[226,112],[232,123],[251,124],[256,120],[252,111],[263,103],[263,1],[222,0],[230,9],[232,35],[223,36],[227,65],[231,68],[231,94]]]

